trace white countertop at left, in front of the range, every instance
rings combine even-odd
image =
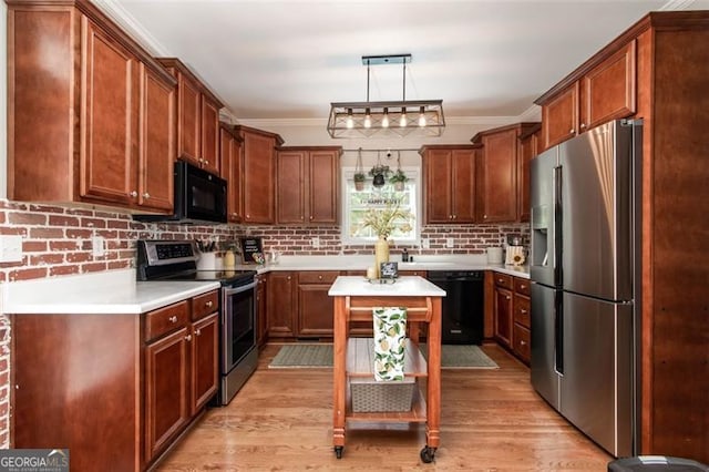
[[[2,311],[35,315],[142,314],[219,288],[217,281],[137,281],[109,270],[2,284]]]

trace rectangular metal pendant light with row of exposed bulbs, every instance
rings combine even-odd
[[[367,65],[367,101],[330,103],[328,133],[331,137],[440,136],[445,127],[442,100],[407,101],[407,64],[411,54],[362,55]],[[369,101],[370,68],[402,64],[402,100]],[[418,112],[418,115],[417,115]]]

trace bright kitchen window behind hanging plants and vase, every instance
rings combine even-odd
[[[368,176],[364,188],[354,188],[354,167],[342,168],[342,233],[345,245],[364,245],[377,240],[377,234],[372,228],[362,228],[361,220],[364,213],[370,209],[383,209],[388,205],[399,203],[400,208],[410,212],[414,216],[408,230],[399,226],[389,236],[389,240],[395,244],[418,245],[420,237],[420,172],[415,167],[402,167],[409,177],[402,192],[397,192],[393,185],[387,182],[384,186],[374,188],[372,178]]]

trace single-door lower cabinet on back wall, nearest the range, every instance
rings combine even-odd
[[[268,337],[294,338],[298,332],[298,273],[273,271],[268,275]]]

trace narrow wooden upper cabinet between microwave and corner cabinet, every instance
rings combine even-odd
[[[219,170],[222,178],[227,183],[227,219],[240,223],[243,219],[242,198],[242,138],[234,132],[234,126],[219,123]]]

